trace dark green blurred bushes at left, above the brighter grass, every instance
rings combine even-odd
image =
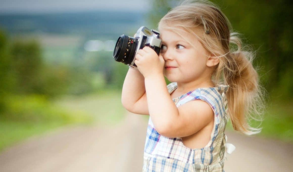
[[[57,97],[93,91],[91,73],[84,66],[46,63],[33,38],[6,38],[0,31],[0,96],[39,94]],[[4,109],[5,98],[0,101]]]

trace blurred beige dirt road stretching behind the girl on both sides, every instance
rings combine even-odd
[[[141,171],[147,121],[129,114],[115,127],[69,127],[33,137],[0,154],[0,172]],[[293,145],[226,132],[236,150],[226,172],[293,170]]]

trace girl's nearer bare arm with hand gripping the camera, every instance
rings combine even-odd
[[[190,136],[214,121],[214,111],[202,100],[177,108],[166,87],[164,63],[163,57],[149,47],[139,50],[136,56],[135,64],[144,77],[149,115],[161,135]]]

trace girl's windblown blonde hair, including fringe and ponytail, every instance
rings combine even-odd
[[[219,7],[205,0],[183,1],[160,20],[158,29],[192,33],[219,58],[212,79],[217,84],[229,85],[227,114],[233,128],[247,135],[259,133],[261,128],[248,124],[250,119],[261,121],[263,109],[262,88],[252,65],[255,53],[244,50],[248,46],[242,47],[238,33],[230,33],[231,24]]]

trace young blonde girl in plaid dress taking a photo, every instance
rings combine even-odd
[[[222,172],[228,117],[237,131],[260,131],[246,122],[262,102],[253,54],[207,1],[184,1],[158,29],[160,55],[139,50],[122,89],[128,111],[150,116],[143,171]]]

